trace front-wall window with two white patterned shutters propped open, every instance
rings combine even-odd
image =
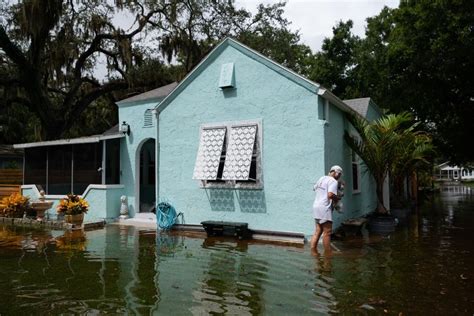
[[[262,187],[259,122],[201,127],[194,179],[205,188]]]

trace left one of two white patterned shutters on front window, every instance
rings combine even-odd
[[[193,179],[216,180],[224,145],[225,127],[203,128],[194,166]]]

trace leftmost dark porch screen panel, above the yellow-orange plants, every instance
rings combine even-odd
[[[47,147],[25,149],[25,174],[23,184],[36,184],[38,190],[46,192]]]

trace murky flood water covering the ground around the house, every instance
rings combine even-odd
[[[472,315],[473,236],[462,186],[389,237],[335,241],[331,257],[132,227],[0,226],[0,314]]]

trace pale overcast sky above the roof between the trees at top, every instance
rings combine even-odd
[[[237,7],[256,12],[259,3],[277,0],[236,0]],[[313,51],[321,50],[325,37],[332,36],[332,28],[340,20],[352,20],[353,33],[363,36],[365,19],[377,15],[384,6],[398,7],[399,0],[288,0],[284,16],[292,22],[292,30],[299,30],[301,40]]]

